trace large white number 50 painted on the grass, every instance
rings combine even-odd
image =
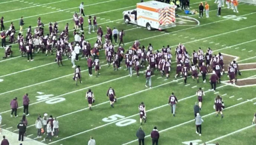
[[[118,115],[118,114],[115,114],[115,115],[111,115],[109,117],[105,117],[102,119],[102,121],[104,122],[113,122],[113,121],[117,121],[119,120],[119,118],[125,118],[125,116],[122,116],[122,115]],[[128,125],[131,125],[132,123],[135,123],[136,120],[134,119],[126,119],[126,120],[122,120],[122,121],[119,121],[116,123],[116,126],[128,126]]]

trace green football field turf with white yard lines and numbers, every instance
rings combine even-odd
[[[74,69],[71,60],[63,56],[63,66],[54,61],[56,55],[33,54],[34,61],[27,61],[19,53],[18,44],[11,44],[13,56],[0,60],[0,115],[3,117],[1,128],[4,133],[18,133],[17,124],[23,115],[22,97],[29,94],[29,116],[26,138],[23,145],[32,144],[87,144],[92,136],[97,144],[118,145],[138,144],[136,131],[140,127],[138,105],[146,106],[147,122],[142,124],[145,144],[152,144],[150,133],[154,126],[160,132],[159,144],[255,144],[255,125],[252,120],[256,108],[256,5],[239,2],[239,13],[221,9],[221,16],[216,17],[217,4],[208,0],[210,6],[209,18],[198,18],[199,14],[185,15],[184,11],[177,11],[179,15],[187,16],[176,19],[176,27],[163,31],[147,30],[134,24],[125,24],[122,12],[136,8],[140,0],[94,0],[85,2],[85,39],[91,45],[97,40],[97,34],[88,34],[88,16],[97,16],[98,27],[101,26],[106,34],[106,27],[116,27],[124,30],[124,49],[128,50],[135,39],[140,45],[147,47],[149,43],[154,50],[161,50],[170,45],[173,58],[171,59],[170,78],[161,77],[160,71],[154,71],[152,87],[145,87],[145,68],[140,69],[140,76],[136,71],[130,77],[124,62],[121,69],[114,71],[112,65],[106,62],[105,51],[100,51],[100,76],[89,76],[87,61],[81,58],[76,65],[81,66],[82,84],[76,86],[73,81]],[[199,0],[190,1],[190,10],[198,10]],[[203,1],[205,2],[205,1]],[[69,23],[69,37],[73,39],[74,12],[79,12],[81,0],[1,0],[0,17],[4,17],[7,30],[11,22],[19,32],[19,19],[23,17],[23,35],[29,25],[33,30],[37,26],[37,19],[41,17],[45,24],[45,34],[48,33],[48,23],[58,22],[59,32]],[[204,12],[205,14],[205,12]],[[191,19],[191,20],[190,20]],[[7,38],[7,41],[9,38]],[[210,74],[206,75],[206,83],[199,76],[199,83],[188,77],[184,85],[183,77],[176,74],[175,48],[182,43],[186,50],[203,49],[204,53],[210,47],[214,54],[224,56],[225,71],[231,61],[236,60],[242,75],[238,76],[236,85],[229,84],[227,73],[221,76],[221,84],[217,84],[216,91],[211,91]],[[115,50],[117,50],[115,44]],[[56,54],[56,52],[55,52]],[[0,56],[4,56],[4,49],[0,48]],[[81,56],[81,55],[80,55]],[[112,87],[117,96],[115,107],[110,107],[107,90]],[[196,91],[203,88],[203,98],[200,115],[203,117],[202,135],[195,133],[193,106],[198,101]],[[92,111],[85,99],[86,92],[91,89],[95,95]],[[174,92],[178,99],[176,116],[171,114],[168,105],[169,96]],[[215,116],[214,99],[220,95],[225,103],[224,118]],[[18,117],[10,117],[10,101],[18,98]],[[59,121],[59,136],[51,142],[37,137],[35,122],[38,114],[44,113],[57,117]],[[46,137],[46,135],[43,135]],[[28,139],[30,138],[30,139]],[[7,136],[11,140],[11,137]],[[18,139],[18,138],[17,138]],[[17,140],[12,139],[13,141]],[[16,143],[17,144],[17,143]]]

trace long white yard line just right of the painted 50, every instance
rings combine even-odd
[[[229,108],[233,108],[233,107],[235,107],[235,106],[242,105],[242,104],[244,104],[244,103],[247,103],[247,102],[253,101],[253,100],[255,100],[255,99],[256,99],[256,97],[255,97],[254,99],[247,100],[247,101],[244,101],[244,102],[240,102],[240,103],[237,103],[236,105],[233,105],[233,106],[230,106],[230,107],[224,108],[223,110],[227,110],[227,109],[229,109]],[[216,112],[212,112],[212,113],[209,113],[208,115],[204,115],[204,116],[201,116],[201,117],[202,117],[202,118],[204,118],[204,117],[207,117],[207,116],[213,115],[213,114],[215,114],[215,113],[216,113]],[[176,125],[176,126],[173,126],[173,127],[166,128],[166,129],[164,129],[164,130],[159,131],[159,133],[161,133],[161,132],[165,132],[165,131],[168,131],[168,130],[171,130],[171,129],[176,128],[176,127],[180,127],[180,126],[186,125],[186,124],[188,124],[188,123],[190,123],[190,122],[194,122],[194,121],[195,121],[195,119],[190,120],[190,121],[187,121],[187,122],[184,122],[184,123],[181,123],[181,124]],[[147,136],[145,136],[145,138],[147,138],[147,137],[150,137],[150,134],[149,134],[149,135],[147,135]],[[122,144],[122,145],[130,144],[130,143],[132,143],[132,142],[136,142],[136,141],[137,141],[137,139],[135,139],[134,141],[131,141],[131,142],[124,143],[124,144]]]

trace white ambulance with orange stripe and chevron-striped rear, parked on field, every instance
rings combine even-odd
[[[175,27],[175,5],[168,3],[147,1],[136,4],[136,9],[124,11],[126,24],[136,24],[147,30],[163,30]]]

